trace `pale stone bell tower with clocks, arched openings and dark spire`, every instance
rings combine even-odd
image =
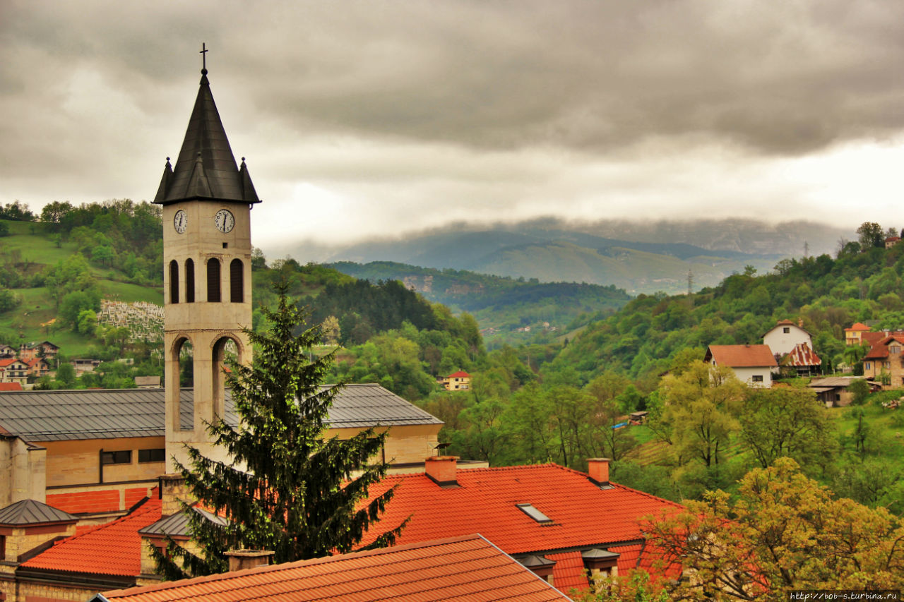
[[[206,49],[202,52],[206,52]],[[205,56],[205,54],[202,54]],[[260,202],[245,158],[237,166],[207,80],[206,61],[175,166],[166,157],[154,202],[163,205],[166,472],[188,466],[185,445],[226,460],[207,423],[224,416],[223,354],[251,347],[250,210]],[[193,391],[181,390],[180,352],[193,349]]]

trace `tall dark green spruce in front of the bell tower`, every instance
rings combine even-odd
[[[165,578],[222,572],[228,569],[222,555],[227,550],[273,550],[275,562],[353,550],[394,494],[393,487],[363,503],[368,487],[386,475],[386,463],[368,463],[385,432],[369,428],[349,439],[324,438],[327,410],[340,390],[322,384],[334,353],[311,358],[320,327],[294,334],[304,324],[304,312],[288,298],[286,282],[274,288],[278,310],[263,310],[268,332],[246,331],[254,361],[231,362],[226,375],[239,425],[221,419],[209,428],[233,463],[189,447],[192,466],[179,466],[197,507],[214,514],[184,506],[201,554],[172,540],[166,554],[153,549]],[[360,549],[391,545],[404,524]]]

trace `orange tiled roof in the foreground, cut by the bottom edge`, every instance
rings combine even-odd
[[[469,534],[105,592],[108,600],[567,600],[483,537]]]

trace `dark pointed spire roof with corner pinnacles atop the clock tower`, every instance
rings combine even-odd
[[[235,164],[220,113],[213,102],[207,70],[202,71],[201,88],[175,168],[166,157],[154,202],[165,205],[188,199],[260,202],[244,157],[241,169]]]

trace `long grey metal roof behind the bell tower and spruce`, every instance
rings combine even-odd
[[[180,391],[181,426],[193,423],[193,390]],[[164,389],[35,390],[0,393],[0,428],[29,441],[165,435]],[[229,391],[226,416],[238,424]],[[329,412],[330,427],[442,424],[377,384],[348,385]]]

